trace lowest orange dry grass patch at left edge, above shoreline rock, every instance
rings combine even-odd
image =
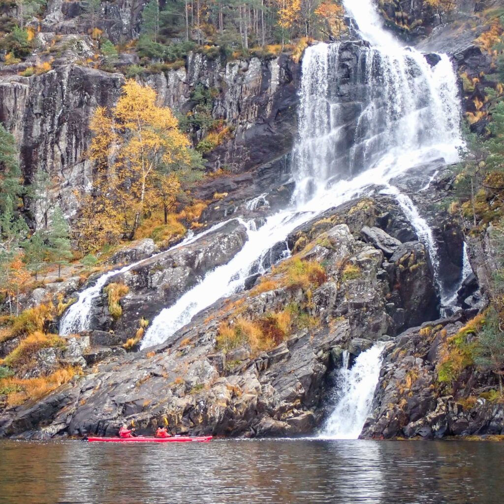
[[[0,394],[7,395],[9,406],[19,406],[27,400],[36,400],[61,385],[69,382],[75,376],[77,369],[64,367],[48,376],[22,380],[19,378],[5,378],[0,380]]]

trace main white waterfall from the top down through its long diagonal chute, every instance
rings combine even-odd
[[[342,72],[345,43],[319,43],[305,50],[291,204],[268,217],[259,229],[254,221],[245,221],[248,241],[242,249],[163,309],[148,328],[143,348],[162,343],[199,311],[242,289],[251,273],[263,271],[261,264],[270,249],[299,225],[366,194],[371,184],[390,187],[394,177],[413,166],[440,157],[447,162],[457,159],[460,104],[449,58],[439,55],[437,64],[430,66],[421,53],[403,47],[384,30],[371,0],[345,0],[345,7],[371,47],[355,45],[358,64],[346,77]],[[355,96],[345,103],[342,96],[349,86],[356,90]],[[356,107],[351,109],[352,117],[348,105]],[[261,205],[267,205],[267,195],[246,206],[254,210]],[[99,285],[82,292],[62,329],[71,321],[73,331],[83,327],[81,319],[89,323],[92,300],[119,272],[107,273]]]

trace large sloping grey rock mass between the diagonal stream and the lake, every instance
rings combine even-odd
[[[368,202],[353,202],[358,209],[354,212],[369,211],[362,201]],[[335,222],[346,216],[346,210],[334,210]],[[240,225],[234,229],[236,237],[244,232]],[[5,412],[0,417],[0,434],[110,435],[119,422],[130,419],[139,431],[150,432],[163,417],[174,432],[193,434],[311,432],[323,419],[324,398],[332,387],[329,375],[341,366],[342,349],[356,355],[375,341],[390,341],[390,335],[410,319],[428,317],[430,292],[424,289],[423,298],[409,299],[420,274],[423,285],[433,288],[423,245],[397,245],[386,260],[380,248],[358,239],[361,229],[355,231],[354,237],[346,224],[327,224],[327,219],[324,225],[312,223],[305,231],[312,239],[302,247],[297,244],[299,251],[292,261],[326,265],[317,284],[310,288],[292,284],[286,263],[259,286],[221,299],[199,313],[168,342],[144,352],[105,358],[93,373],[74,379],[36,405]],[[231,242],[232,233],[225,232]],[[209,237],[205,243],[212,247],[217,246],[215,242]],[[149,269],[141,266],[131,279],[124,276],[133,296],[147,285],[142,278],[150,282],[156,275],[174,274],[177,267],[168,267],[174,262],[191,263],[210,256],[198,253],[202,245],[196,243],[196,248],[189,245],[153,258]],[[163,268],[156,273],[154,263],[159,260]],[[195,267],[196,263],[191,264]],[[266,291],[261,288],[263,282],[271,285]],[[401,283],[410,288],[402,288]],[[128,310],[127,305],[123,307]],[[246,319],[260,327],[286,307],[290,307],[291,329],[277,346],[262,351],[247,340],[230,348],[220,346],[217,337],[223,324],[232,327]],[[136,309],[131,311],[136,313]]]

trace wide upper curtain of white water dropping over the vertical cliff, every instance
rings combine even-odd
[[[381,183],[392,172],[458,159],[460,105],[448,56],[439,55],[432,68],[421,53],[397,42],[362,49],[365,72],[351,79],[355,88],[365,85],[367,95],[348,156],[348,104],[338,93],[340,49],[337,43],[318,44],[303,57],[301,96],[309,99],[301,100],[293,155],[297,203],[318,200],[334,180],[359,171],[375,168]]]

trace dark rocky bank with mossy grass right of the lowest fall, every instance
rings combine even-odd
[[[425,324],[389,346],[363,437],[504,433],[504,407],[485,396],[498,387],[496,377],[477,371],[470,361],[462,369],[446,367],[453,358],[447,353],[451,338],[463,330],[463,321],[459,314]]]

